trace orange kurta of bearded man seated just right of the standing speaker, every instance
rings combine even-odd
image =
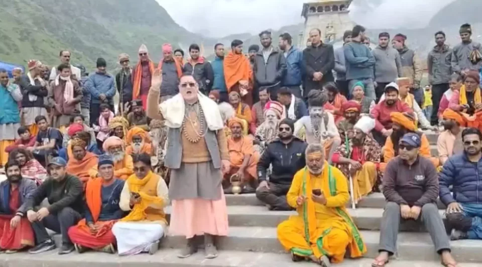
[[[246,168],[246,174],[249,174],[250,178],[258,179],[256,173],[256,165],[260,160],[260,154],[255,150],[253,146],[253,139],[247,136],[243,136],[241,139],[235,141],[233,138],[227,139],[227,149],[229,151],[229,162],[231,163],[231,170],[237,171],[243,164],[246,156],[251,156]]]

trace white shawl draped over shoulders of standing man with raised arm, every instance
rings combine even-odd
[[[207,127],[210,130],[220,130],[224,128],[221,112],[216,102],[209,97],[198,92],[198,100],[206,119]],[[165,118],[166,126],[170,128],[179,128],[184,120],[185,104],[181,93],[176,94],[159,104],[159,110]]]

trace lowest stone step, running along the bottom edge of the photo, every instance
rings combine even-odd
[[[214,259],[205,259],[204,254],[198,252],[188,258],[180,259],[175,249],[161,249],[154,255],[139,254],[132,256],[117,256],[100,252],[86,252],[78,254],[72,252],[68,255],[58,255],[57,251],[49,251],[37,255],[25,252],[16,254],[1,254],[0,266],[3,267],[259,267],[277,266],[289,267],[315,266],[311,262],[292,262],[289,254],[257,253],[245,251],[222,250]],[[461,259],[461,258],[460,258]],[[345,259],[337,267],[369,267],[373,259]],[[406,261],[393,259],[390,267],[439,267],[440,260]],[[478,263],[459,263],[461,267],[477,267]]]

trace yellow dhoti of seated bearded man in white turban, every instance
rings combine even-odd
[[[377,180],[377,166],[373,162],[366,162],[362,165],[362,169],[357,171],[353,177],[353,197],[355,204],[362,197],[370,194]]]

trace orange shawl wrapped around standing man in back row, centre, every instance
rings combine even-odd
[[[250,62],[243,54],[238,55],[229,51],[227,56],[224,57],[223,68],[228,92],[237,82],[241,80],[250,81],[252,73]]]

